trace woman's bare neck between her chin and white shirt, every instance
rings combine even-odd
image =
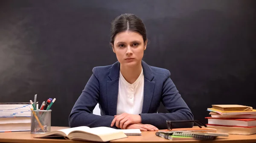
[[[130,84],[133,84],[138,79],[141,70],[141,62],[137,65],[134,65],[133,67],[125,67],[120,64],[120,72],[122,73],[122,76],[125,78],[125,80]]]

